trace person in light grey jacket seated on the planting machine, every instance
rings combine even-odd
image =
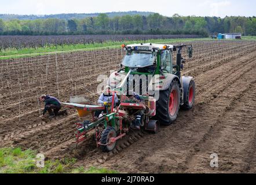
[[[107,86],[104,92],[100,95],[100,98],[98,98],[98,103],[102,106],[105,106],[105,110],[97,110],[94,114],[94,120],[97,120],[102,112],[107,113],[108,105],[111,105],[112,103],[112,97],[113,95],[111,92],[111,87]],[[114,107],[117,105],[118,101],[118,97],[115,93]]]

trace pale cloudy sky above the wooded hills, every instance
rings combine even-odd
[[[256,1],[245,0],[0,0],[0,14],[156,12],[163,16],[256,16]]]

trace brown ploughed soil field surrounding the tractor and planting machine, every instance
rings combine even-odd
[[[256,42],[190,43],[193,58],[183,73],[195,77],[194,108],[180,110],[177,121],[158,134],[127,135],[110,153],[98,150],[92,135],[75,148],[77,113],[39,118],[43,105],[37,97],[51,94],[65,102],[70,95],[86,95],[95,104],[97,78],[119,68],[122,50],[2,60],[0,147],[21,146],[48,158],[74,157],[76,165],[128,173],[255,173]],[[218,155],[218,168],[210,166],[211,154]]]

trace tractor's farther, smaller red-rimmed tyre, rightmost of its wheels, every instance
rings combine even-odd
[[[181,108],[184,110],[192,109],[195,103],[195,97],[196,97],[195,81],[191,80],[187,89],[186,90],[184,89],[184,104],[181,106]]]

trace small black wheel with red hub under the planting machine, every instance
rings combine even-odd
[[[101,136],[100,142],[101,144],[104,144],[104,145],[101,145],[101,149],[104,152],[111,151],[116,146],[116,142],[106,145],[107,143],[109,143],[110,138],[116,138],[116,131],[113,127],[108,127],[104,129],[103,134]]]

